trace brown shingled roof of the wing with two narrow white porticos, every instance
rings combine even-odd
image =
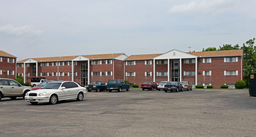
[[[83,55],[83,57],[86,57],[88,59],[114,59],[115,57],[118,57],[124,53],[116,53],[116,54],[98,54],[98,55]],[[39,57],[39,58],[31,58],[35,61],[41,61],[41,62],[49,62],[49,61],[71,61],[71,59],[74,59],[78,56],[63,56],[63,57]],[[29,58],[28,58],[29,59]],[[17,61],[17,63],[22,63],[28,59],[23,59],[21,61]]]

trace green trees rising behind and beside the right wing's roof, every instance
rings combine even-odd
[[[223,44],[219,48],[209,47],[204,49],[204,51],[217,51],[217,50],[243,50],[243,80],[249,87],[249,73],[256,72],[256,46],[254,46],[254,40],[250,39],[243,43],[243,46],[236,44],[232,46],[231,44]]]

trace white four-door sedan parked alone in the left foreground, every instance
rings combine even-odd
[[[25,101],[31,104],[49,102],[56,104],[60,100],[76,99],[82,101],[87,95],[87,89],[72,81],[54,81],[41,89],[26,93]]]

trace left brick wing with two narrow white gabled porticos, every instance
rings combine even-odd
[[[17,73],[26,83],[32,76],[48,80],[76,81],[87,85],[90,81],[122,79],[124,53],[84,56],[29,58],[17,62]],[[24,67],[25,66],[25,67]]]

